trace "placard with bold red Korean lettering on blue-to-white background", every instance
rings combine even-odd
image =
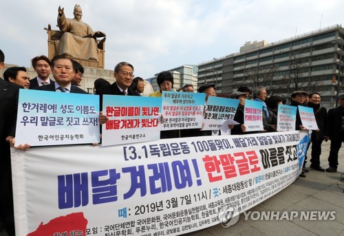
[[[103,146],[160,139],[161,98],[103,95]]]

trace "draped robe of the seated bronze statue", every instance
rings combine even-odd
[[[56,41],[56,52],[58,55],[69,54],[74,58],[89,60],[94,58],[98,60],[96,40],[84,36],[93,35],[94,32],[87,23],[77,21],[76,19],[67,19],[65,14],[57,17],[58,28],[63,33],[62,38]]]

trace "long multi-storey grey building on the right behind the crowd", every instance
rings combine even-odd
[[[219,94],[259,85],[286,97],[295,90],[319,92],[323,106],[333,107],[344,83],[343,44],[341,25],[275,43],[247,42],[239,53],[200,64],[198,85],[215,83]]]

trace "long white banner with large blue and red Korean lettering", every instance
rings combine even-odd
[[[12,150],[16,235],[180,235],[301,173],[305,131]]]

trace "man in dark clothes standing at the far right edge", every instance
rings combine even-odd
[[[330,155],[328,156],[329,168],[327,172],[336,172],[338,167],[338,151],[344,142],[344,94],[338,97],[338,107],[332,108],[327,113],[327,129],[325,138],[330,138]]]

